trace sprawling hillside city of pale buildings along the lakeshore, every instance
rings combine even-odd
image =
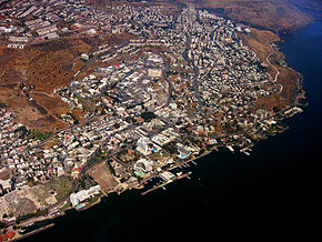
[[[282,87],[244,44],[245,24],[193,7],[38,4],[0,10],[7,48],[83,36],[100,44],[73,59],[81,68],[48,93],[69,108],[58,117],[67,127],[28,129],[1,103],[0,218],[9,225],[82,210],[152,178],[163,186],[188,177],[173,169],[220,147],[249,155],[253,141],[282,132],[283,117],[302,111],[256,104]],[[104,42],[110,33],[122,40]]]

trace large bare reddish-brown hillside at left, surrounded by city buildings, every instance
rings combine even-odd
[[[91,50],[87,42],[61,39],[24,50],[0,48],[0,102],[9,104],[17,122],[41,131],[67,127],[59,117],[69,109],[53,91],[66,87],[84,64],[79,56]]]

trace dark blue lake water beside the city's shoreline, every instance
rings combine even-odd
[[[251,157],[213,152],[191,167],[191,180],[167,191],[144,196],[129,191],[70,211],[27,241],[227,241],[222,235],[289,241],[299,234],[308,241],[320,220],[322,23],[294,36],[281,50],[303,74],[310,105],[286,120],[288,131],[259,142]]]

